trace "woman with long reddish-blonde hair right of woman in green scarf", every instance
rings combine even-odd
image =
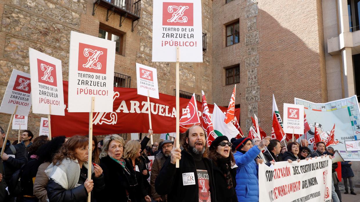
[[[132,169],[135,171],[136,180],[138,181],[138,188],[141,189],[142,196],[145,201],[150,202],[148,189],[145,188],[143,171],[146,170],[143,162],[140,160],[141,156],[141,144],[136,140],[131,140],[126,143],[124,150],[124,158],[128,159],[132,165]],[[141,200],[140,194],[138,194],[138,201]]]

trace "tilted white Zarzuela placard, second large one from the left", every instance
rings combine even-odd
[[[64,116],[61,60],[29,48],[32,112]]]

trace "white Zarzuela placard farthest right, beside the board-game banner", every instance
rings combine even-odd
[[[285,133],[304,134],[304,106],[284,103],[283,129]]]

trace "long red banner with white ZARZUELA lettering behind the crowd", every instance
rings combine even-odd
[[[65,116],[51,115],[51,136],[86,135],[89,133],[89,113],[69,113],[68,82],[64,84]],[[93,134],[108,135],[113,133],[147,133],[149,130],[149,115],[147,97],[138,95],[135,88],[114,87],[113,112],[93,113]],[[96,102],[96,99],[95,99]],[[189,99],[180,98],[180,109],[185,110]],[[201,106],[197,101],[197,105]],[[212,113],[214,105],[208,104]],[[151,120],[154,133],[176,131],[175,97],[159,93],[159,99],[150,98]],[[226,107],[219,107],[226,112]],[[201,117],[201,111],[198,111]],[[240,109],[235,109],[235,116],[240,117]]]

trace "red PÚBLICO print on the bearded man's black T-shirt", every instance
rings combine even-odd
[[[210,179],[207,170],[196,170],[198,174],[199,202],[210,202]]]

